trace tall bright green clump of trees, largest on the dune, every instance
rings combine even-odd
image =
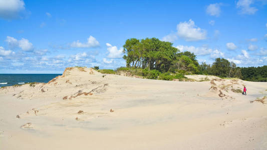
[[[178,69],[197,73],[196,55],[180,52],[171,42],[158,38],[127,39],[123,45],[127,67],[156,69],[161,72]]]

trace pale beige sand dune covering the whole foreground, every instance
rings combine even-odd
[[[0,149],[267,149],[266,82],[102,76],[1,88]]]

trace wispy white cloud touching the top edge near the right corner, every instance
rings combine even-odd
[[[257,8],[251,6],[253,3],[253,0],[238,0],[236,7],[240,8],[241,14],[254,14],[257,11]]]

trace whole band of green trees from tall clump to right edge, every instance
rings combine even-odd
[[[238,77],[249,81],[267,81],[267,66],[236,67],[234,62],[216,58],[212,64],[199,64],[196,55],[180,52],[171,42],[158,38],[130,38],[123,45],[126,67],[157,70],[167,73],[210,74],[220,77]]]

